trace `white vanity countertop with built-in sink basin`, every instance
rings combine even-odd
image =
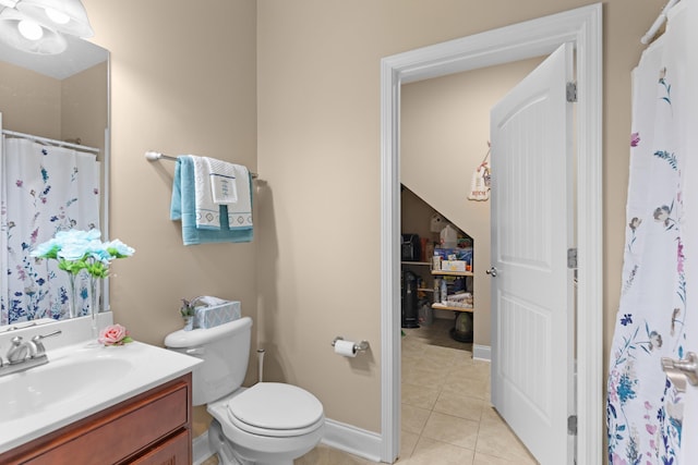
[[[56,329],[58,323],[33,333]],[[74,343],[73,331],[67,338],[73,343],[51,348],[49,342],[59,338],[45,341],[48,364],[0,377],[0,453],[190,372],[202,362],[140,342],[108,347],[91,339]],[[4,340],[0,338],[3,358]]]

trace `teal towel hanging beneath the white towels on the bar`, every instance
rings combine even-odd
[[[250,183],[252,186],[252,183]],[[252,187],[250,187],[252,191]],[[250,192],[252,198],[252,192]],[[194,201],[194,162],[189,156],[177,157],[174,180],[172,182],[172,201],[170,219],[182,222],[182,241],[184,245],[218,242],[252,242],[253,228],[230,229],[228,224],[228,207],[220,205],[220,229],[196,229],[196,205]]]

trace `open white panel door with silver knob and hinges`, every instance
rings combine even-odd
[[[543,465],[574,454],[573,52],[558,48],[491,112],[492,403]]]

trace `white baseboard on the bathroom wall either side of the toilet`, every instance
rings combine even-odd
[[[381,435],[376,432],[326,419],[325,436],[321,442],[371,462],[381,462]],[[214,454],[208,446],[208,431],[194,438],[192,449],[193,465],[201,465]]]

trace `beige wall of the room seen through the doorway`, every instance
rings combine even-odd
[[[490,109],[540,58],[402,86],[400,180],[473,238],[473,342],[490,346],[490,201],[468,200],[488,152]]]

